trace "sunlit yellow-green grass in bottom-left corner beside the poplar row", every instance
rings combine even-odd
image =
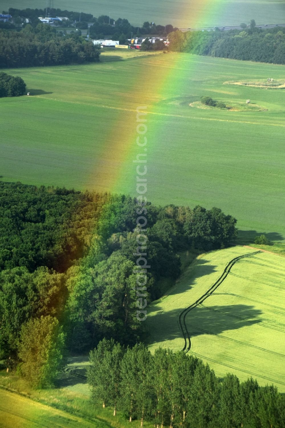
[[[85,375],[88,357],[73,357],[68,370]],[[126,428],[129,421],[118,412],[114,418],[111,407],[90,400],[86,380],[72,372],[62,374],[52,389],[31,389],[15,372],[0,370],[0,426],[1,428],[82,427]],[[141,421],[134,420],[138,428]],[[144,426],[150,428],[148,422]]]

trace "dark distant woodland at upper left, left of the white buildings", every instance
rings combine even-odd
[[[0,30],[0,67],[37,67],[98,62],[99,49],[74,34],[63,36],[53,27],[26,25],[21,31]]]

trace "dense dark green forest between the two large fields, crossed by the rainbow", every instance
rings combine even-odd
[[[0,357],[19,357],[21,327],[50,316],[70,351],[103,338],[144,339],[136,317],[136,199],[0,182]],[[148,301],[180,273],[178,252],[211,250],[235,239],[236,220],[206,210],[147,203]],[[32,326],[30,326],[32,328]]]

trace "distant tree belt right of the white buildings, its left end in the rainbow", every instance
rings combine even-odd
[[[254,20],[243,30],[174,31],[170,51],[285,64],[285,28],[261,29]]]

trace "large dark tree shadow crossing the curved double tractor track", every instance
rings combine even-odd
[[[254,306],[209,306],[210,299],[211,297],[206,299],[203,306],[199,305],[187,313],[185,322],[190,339],[204,334],[217,335],[227,330],[250,327],[262,321],[259,318],[262,311],[254,309]],[[191,302],[185,302],[185,307],[187,304],[191,304]],[[181,348],[183,347],[184,339],[178,325],[179,314],[183,309],[185,308],[171,311],[164,310],[148,318],[149,322],[146,321],[148,331],[151,329],[151,335],[147,340],[149,345],[158,341],[181,339]],[[155,330],[157,330],[157,333]]]

